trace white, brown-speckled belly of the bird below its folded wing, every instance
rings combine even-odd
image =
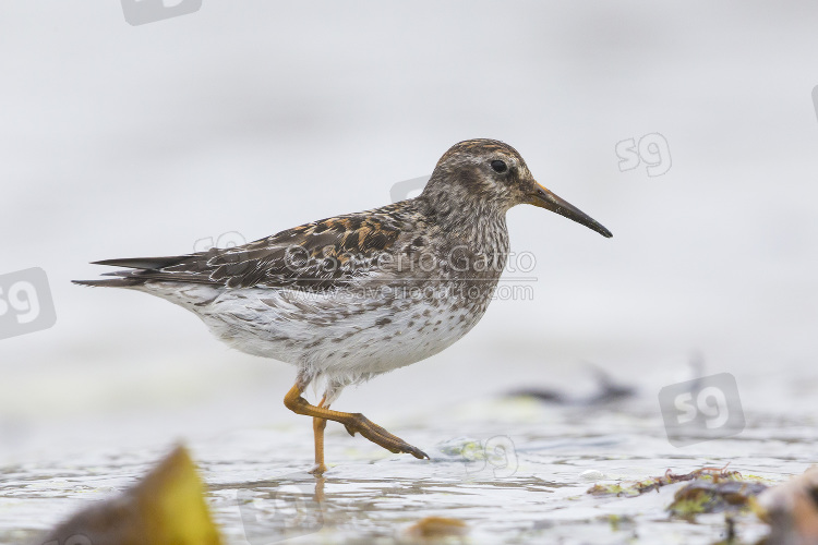
[[[466,335],[488,306],[488,301],[476,308],[444,296],[363,299],[348,292],[263,288],[191,287],[182,298],[160,283],[145,291],[194,312],[214,335],[242,352],[291,363],[339,384],[436,354]]]

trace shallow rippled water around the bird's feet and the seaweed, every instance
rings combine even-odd
[[[724,514],[687,522],[665,511],[683,483],[638,497],[587,491],[727,463],[780,482],[815,462],[813,416],[750,413],[742,434],[678,449],[651,401],[582,407],[495,397],[388,423],[429,461],[390,455],[330,423],[323,480],[306,473],[309,426],[245,428],[189,447],[226,541],[251,545],[411,542],[407,529],[431,516],[466,522],[467,543],[710,544],[725,535]],[[27,540],[128,487],[164,453],[112,448],[2,468],[0,542]],[[741,543],[766,533],[754,516],[735,520]]]

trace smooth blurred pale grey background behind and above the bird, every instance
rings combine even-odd
[[[291,367],[165,301],[70,280],[386,204],[471,137],[515,146],[614,238],[514,209],[533,299],[494,302],[339,409],[388,423],[521,385],[581,389],[587,362],[654,397],[698,352],[736,376],[748,414],[816,410],[815,2],[204,0],[137,27],[116,1],[0,12],[0,274],[43,267],[57,310],[0,341],[2,460],[308,434],[281,404]],[[621,172],[616,144],[655,132],[667,173]]]

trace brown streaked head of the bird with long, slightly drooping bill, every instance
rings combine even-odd
[[[468,140],[446,152],[426,183],[422,197],[447,201],[448,205],[506,211],[518,204],[531,204],[565,216],[613,237],[611,231],[582,210],[540,185],[520,154],[503,142]]]

